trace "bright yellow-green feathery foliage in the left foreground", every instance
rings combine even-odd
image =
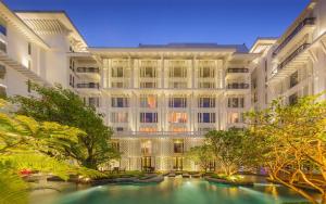
[[[8,114],[0,100],[0,203],[27,203],[29,186],[20,175],[23,169],[39,170],[67,179],[70,174],[100,177],[100,173],[58,161],[42,152],[55,152],[75,141],[83,131],[57,123],[38,123],[22,115]]]

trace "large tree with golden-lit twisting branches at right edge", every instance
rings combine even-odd
[[[247,114],[251,133],[261,138],[255,145],[263,149],[269,177],[312,203],[317,201],[298,184],[317,190],[326,203],[326,101],[319,97],[305,97],[287,106],[275,100],[271,107]]]

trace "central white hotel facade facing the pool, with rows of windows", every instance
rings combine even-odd
[[[90,48],[102,67],[101,110],[127,169],[193,168],[184,152],[212,129],[242,128],[250,107],[250,68],[259,55],[243,44],[140,44]]]

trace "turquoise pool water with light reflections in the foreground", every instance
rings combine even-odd
[[[203,179],[165,178],[155,184],[109,184],[60,194],[52,204],[268,204],[305,202],[272,183],[230,187]]]

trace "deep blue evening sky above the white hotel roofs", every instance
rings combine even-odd
[[[246,43],[280,36],[309,0],[4,0],[12,10],[64,10],[91,47]]]

